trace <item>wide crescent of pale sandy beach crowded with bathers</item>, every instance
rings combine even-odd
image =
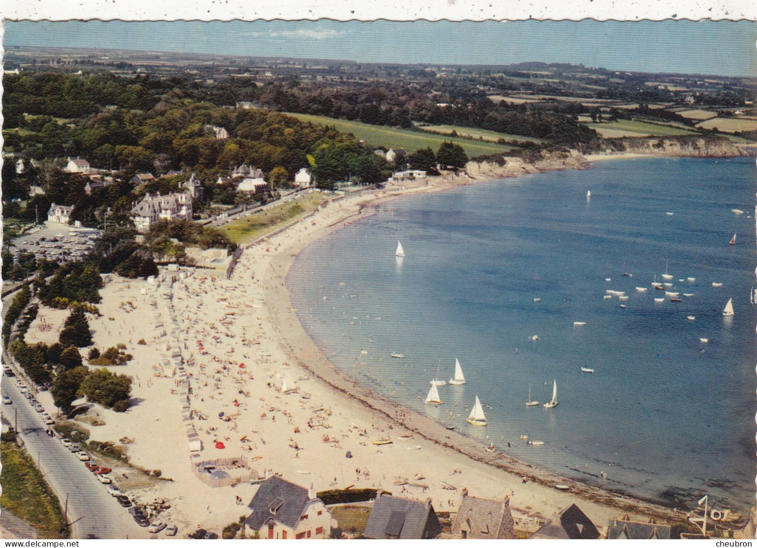
[[[126,467],[114,468],[114,479],[140,501],[170,503],[160,518],[179,525],[180,537],[198,526],[220,532],[248,512],[257,486],[210,487],[193,472],[192,462],[213,459],[244,459],[256,477],[273,472],[316,490],[382,487],[431,497],[438,511],[454,511],[463,487],[476,497],[509,496],[524,525],[570,503],[599,528],[626,512],[675,518],[662,506],[488,452],[357,384],[305,332],[285,280],[307,244],[371,214],[383,201],[469,183],[459,177],[413,188],[389,185],[327,202],[249,245],[229,280],[210,269],[161,269],[165,279],[152,284],[110,276],[101,290],[101,317],[90,324],[100,350],[123,343],[133,354],[126,366],[107,369],[134,378],[135,405],[127,413],[95,407],[89,414],[104,424],[87,428],[92,440],[125,447],[134,465],[160,470],[160,478],[126,478]],[[65,316],[41,309],[26,340],[54,341]],[[43,320],[53,328],[41,328]],[[39,399],[51,406],[48,393]],[[192,440],[202,447],[194,456]],[[372,443],[379,440],[392,443]],[[556,490],[556,484],[571,488]]]

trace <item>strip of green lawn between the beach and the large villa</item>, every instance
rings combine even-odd
[[[330,195],[328,194],[311,192],[309,195],[301,196],[294,201],[274,205],[248,217],[243,216],[228,225],[218,227],[218,230],[226,234],[229,240],[235,244],[246,244],[273,232],[285,223],[301,219],[307,213],[315,211],[320,204],[329,200],[329,198]]]

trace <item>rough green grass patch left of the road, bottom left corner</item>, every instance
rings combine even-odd
[[[37,528],[39,538],[68,538],[61,503],[42,479],[31,457],[15,444],[0,444],[0,506]]]

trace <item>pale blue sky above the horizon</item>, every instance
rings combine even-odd
[[[6,21],[5,45],[757,76],[750,21]]]

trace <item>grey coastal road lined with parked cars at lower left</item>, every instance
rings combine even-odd
[[[18,430],[26,452],[34,459],[51,489],[65,509],[68,497],[68,522],[72,523],[72,538],[148,538],[147,528],[134,522],[127,510],[107,493],[95,475],[76,458],[57,437],[45,434],[42,416],[20,393],[15,379],[2,378],[2,394],[13,400],[2,406],[5,419],[14,425],[16,413]]]

